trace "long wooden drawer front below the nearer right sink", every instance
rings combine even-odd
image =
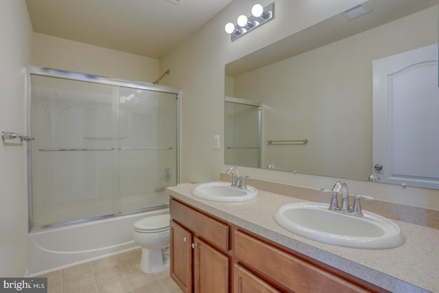
[[[234,249],[239,263],[295,292],[370,292],[241,231]]]

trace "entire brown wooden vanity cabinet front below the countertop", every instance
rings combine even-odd
[[[171,198],[171,278],[183,292],[388,292]]]

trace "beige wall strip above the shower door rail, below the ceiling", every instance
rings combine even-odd
[[[158,60],[34,32],[32,65],[93,75],[154,82]]]

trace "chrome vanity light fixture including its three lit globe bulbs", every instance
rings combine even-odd
[[[274,3],[270,3],[265,7],[261,4],[256,4],[252,8],[252,15],[245,16],[244,14],[237,19],[237,25],[233,23],[227,23],[225,30],[227,34],[230,34],[230,39],[236,40],[240,36],[244,36],[256,27],[263,25],[267,21],[274,18]]]

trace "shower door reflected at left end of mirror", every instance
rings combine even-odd
[[[261,104],[226,97],[226,165],[261,167],[261,118]]]

